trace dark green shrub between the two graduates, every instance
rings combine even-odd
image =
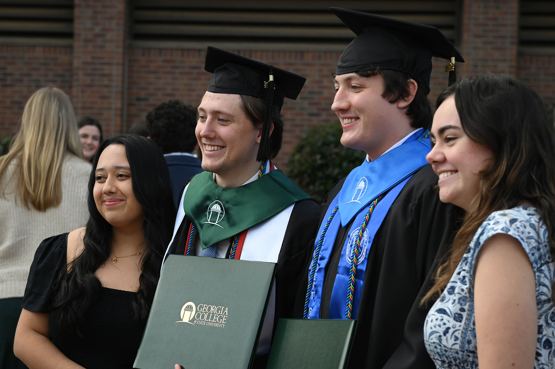
[[[287,161],[287,175],[321,203],[331,187],[364,161],[366,154],[340,143],[341,124],[310,128]]]

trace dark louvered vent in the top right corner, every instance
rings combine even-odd
[[[555,2],[521,0],[519,52],[555,54]]]

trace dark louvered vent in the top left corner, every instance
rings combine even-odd
[[[73,0],[0,0],[0,43],[71,46]]]

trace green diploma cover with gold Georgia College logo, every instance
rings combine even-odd
[[[276,264],[169,255],[134,367],[249,368]]]

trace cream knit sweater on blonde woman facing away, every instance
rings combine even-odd
[[[90,163],[72,154],[62,164],[62,202],[38,211],[23,205],[14,193],[12,164],[0,180],[0,299],[22,297],[38,245],[47,237],[85,225],[88,219],[87,180]]]

